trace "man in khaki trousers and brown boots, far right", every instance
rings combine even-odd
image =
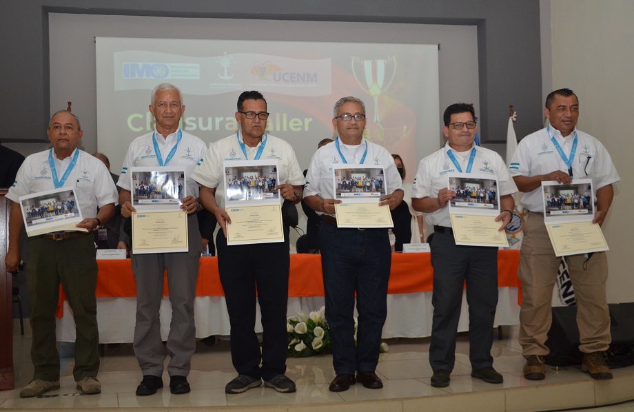
[[[621,180],[604,145],[577,130],[579,101],[572,90],[551,92],[546,97],[544,116],[550,125],[520,141],[510,166],[511,176],[525,193],[522,205],[529,210],[518,276],[523,296],[520,344],[526,358],[524,378],[531,380],[546,377],[543,357],[550,351],[546,338],[552,322],[553,287],[561,260],[555,256],[544,225],[541,183],[558,181],[569,185],[573,178],[591,178],[597,202],[592,223],[602,225],[614,196],[612,184]],[[570,255],[566,256],[566,262],[577,301],[579,350],[584,353],[581,369],[594,379],[611,379],[605,353],[612,341],[606,302],[606,253]]]

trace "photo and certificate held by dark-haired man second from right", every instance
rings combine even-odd
[[[509,247],[500,231],[498,177],[491,174],[449,174],[447,188],[456,192],[449,201],[449,217],[456,245]]]

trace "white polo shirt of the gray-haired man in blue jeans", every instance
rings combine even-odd
[[[394,159],[391,154],[380,145],[369,142],[365,138],[361,138],[359,145],[345,145],[339,141],[339,149],[341,154],[346,158],[349,164],[360,163],[365,147],[367,145],[367,154],[363,164],[371,167],[381,166],[385,173],[384,186],[387,194],[392,194],[398,189],[402,190],[402,179]],[[334,199],[333,192],[333,168],[334,165],[343,165],[344,162],[337,150],[336,143],[328,143],[320,147],[313,155],[306,174],[306,187],[304,187],[304,197],[319,195],[324,199]],[[322,212],[317,212],[323,214]],[[334,216],[334,215],[333,215]]]

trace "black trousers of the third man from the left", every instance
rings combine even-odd
[[[227,246],[227,238],[220,230],[216,235],[216,247],[218,271],[225,290],[231,325],[231,357],[234,367],[240,375],[271,380],[286,371],[286,311],[290,266],[288,240]],[[262,314],[261,353],[258,336],[254,331],[256,289]]]

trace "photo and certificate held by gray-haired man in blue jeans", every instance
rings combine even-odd
[[[382,167],[342,164],[333,167],[333,193],[337,227],[394,227],[387,206],[379,206],[387,194]]]

